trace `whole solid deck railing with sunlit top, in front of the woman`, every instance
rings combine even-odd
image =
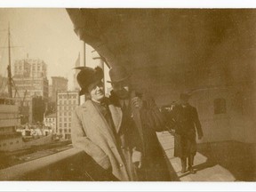
[[[76,148],[0,170],[0,180],[116,180]]]

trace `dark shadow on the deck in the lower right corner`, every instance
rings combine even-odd
[[[204,164],[195,166],[196,172],[220,164],[236,178],[236,181],[256,180],[255,144],[222,141],[198,144],[198,152],[207,157]],[[185,175],[182,175],[184,177]]]

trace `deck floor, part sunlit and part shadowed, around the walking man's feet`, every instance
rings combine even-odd
[[[198,144],[194,168],[196,174],[181,173],[180,158],[173,156],[174,136],[157,132],[164,148],[174,181],[255,181],[256,170],[252,148],[234,141]]]

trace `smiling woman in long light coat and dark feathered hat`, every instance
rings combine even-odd
[[[80,93],[88,93],[89,90],[92,100],[86,100],[82,106],[76,108],[72,120],[72,143],[75,148],[81,148],[92,156],[103,169],[112,171],[118,180],[136,180],[131,148],[125,145],[124,134],[119,133],[120,111],[104,98],[104,94],[101,100],[103,86],[99,85],[99,80],[103,76],[102,71],[82,71],[85,71],[82,77],[79,74],[76,77],[82,88]]]

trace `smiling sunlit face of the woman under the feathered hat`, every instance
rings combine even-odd
[[[91,95],[92,100],[100,101],[104,98],[103,83],[98,81],[88,86],[88,92]]]

